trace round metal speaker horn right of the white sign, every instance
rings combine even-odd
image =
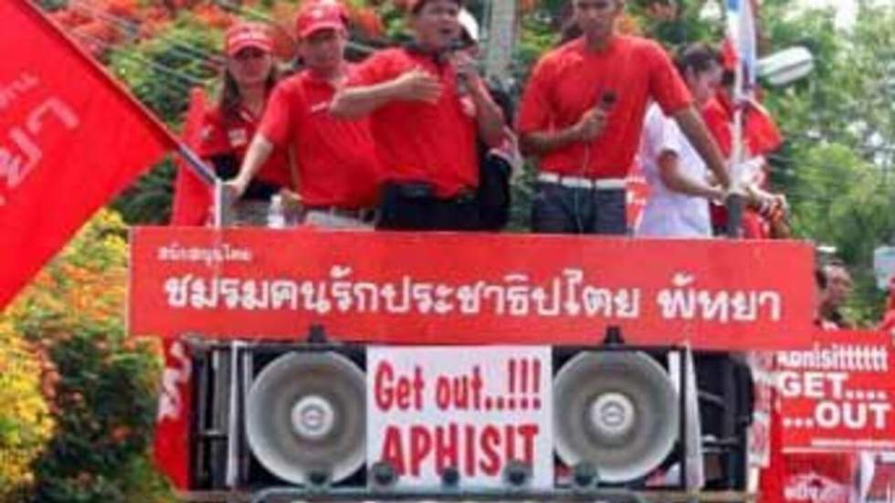
[[[610,484],[648,475],[679,433],[678,393],[668,372],[640,352],[581,352],[553,379],[556,454],[588,462]]]

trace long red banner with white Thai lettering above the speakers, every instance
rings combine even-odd
[[[143,227],[130,331],[411,344],[811,343],[795,242]],[[791,334],[779,337],[777,334]]]

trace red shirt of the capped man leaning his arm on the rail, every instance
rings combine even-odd
[[[373,136],[367,120],[345,121],[330,114],[335,90],[309,70],[279,82],[259,131],[278,150],[295,147],[304,204],[373,207],[379,177]]]

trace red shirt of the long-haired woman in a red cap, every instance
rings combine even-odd
[[[235,155],[237,162],[242,162],[246,155],[248,143],[252,141],[258,120],[252,113],[240,109],[237,117],[225,117],[217,107],[208,110],[203,120],[198,154],[208,159],[216,155]],[[238,170],[238,166],[237,166]],[[224,174],[224,173],[218,173]],[[236,176],[237,173],[232,173]],[[226,173],[227,176],[230,173]],[[268,162],[261,166],[258,180],[281,187],[292,187],[289,159],[285,152],[274,152]]]

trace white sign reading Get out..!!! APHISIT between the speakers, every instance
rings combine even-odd
[[[387,461],[398,487],[505,487],[508,461],[532,466],[531,487],[553,487],[548,346],[371,347],[367,463]]]

